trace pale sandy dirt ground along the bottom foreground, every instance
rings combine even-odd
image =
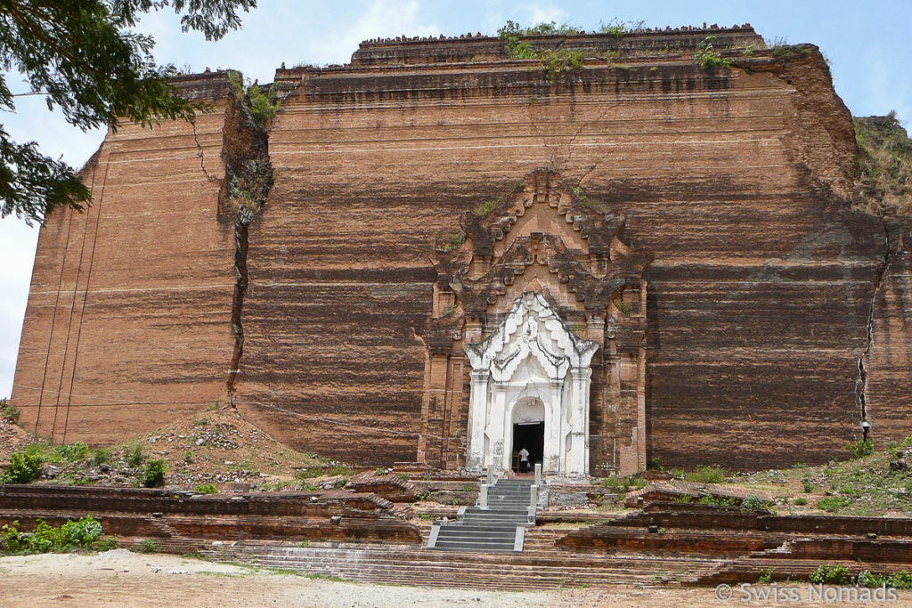
[[[738,601],[737,591],[729,603]],[[720,606],[712,589],[669,587],[552,592],[428,589],[309,579],[294,574],[123,549],[94,555],[0,558],[0,605],[37,606]],[[775,605],[751,602],[750,605]],[[912,604],[900,592],[892,605]],[[882,605],[891,605],[882,604]],[[821,603],[789,603],[821,605]],[[865,604],[877,605],[877,604]]]

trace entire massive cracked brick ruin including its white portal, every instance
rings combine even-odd
[[[731,67],[697,65],[707,36]],[[461,36],[282,67],[268,139],[227,73],[181,77],[214,111],[109,133],[93,206],[41,230],[22,422],[105,444],[233,399],[330,458],[477,469],[544,421],[554,473],[594,476],[820,463],[863,418],[912,434],[912,229],[854,211],[816,47],[750,26],[528,40],[586,58],[548,75]],[[254,167],[268,197],[239,214]],[[511,317],[523,294],[538,325]],[[519,376],[473,375],[496,335],[483,365]]]

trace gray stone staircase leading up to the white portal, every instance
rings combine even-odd
[[[456,521],[434,522],[429,549],[445,551],[523,551],[527,526],[535,524],[532,479],[498,479],[487,487],[486,506],[459,510]]]

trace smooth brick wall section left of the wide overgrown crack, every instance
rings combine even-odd
[[[224,398],[233,240],[216,221],[225,74],[178,83],[211,114],[109,133],[83,171],[94,202],[38,236],[12,401],[22,423],[113,443]]]

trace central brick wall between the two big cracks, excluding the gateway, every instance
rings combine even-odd
[[[275,190],[251,232],[250,411],[318,451],[413,459],[414,437],[383,429],[419,429],[411,328],[430,312],[434,233],[549,168],[655,254],[651,456],[753,468],[842,453],[886,245],[823,185],[845,188],[854,143],[819,54],[759,55],[752,73],[684,54],[555,83],[484,62],[280,70]]]

